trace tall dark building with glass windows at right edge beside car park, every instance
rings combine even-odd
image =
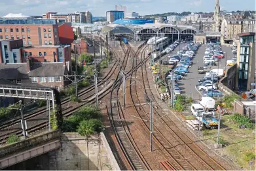
[[[236,58],[236,89],[255,89],[255,33],[238,34]]]

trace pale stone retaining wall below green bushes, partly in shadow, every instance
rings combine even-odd
[[[115,169],[107,153],[110,148],[94,134],[88,140],[76,132],[65,132],[61,136],[62,148],[49,153],[50,170],[119,170]],[[104,139],[104,138],[103,138]],[[116,162],[114,162],[116,163]],[[117,165],[118,166],[118,165]]]

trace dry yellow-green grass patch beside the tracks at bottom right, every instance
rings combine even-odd
[[[255,156],[255,133],[252,129],[239,129],[238,125],[230,116],[221,116],[221,144],[225,147],[219,150],[238,166],[249,169],[248,160]],[[217,129],[206,129],[203,135],[202,140],[211,144],[217,141]]]

